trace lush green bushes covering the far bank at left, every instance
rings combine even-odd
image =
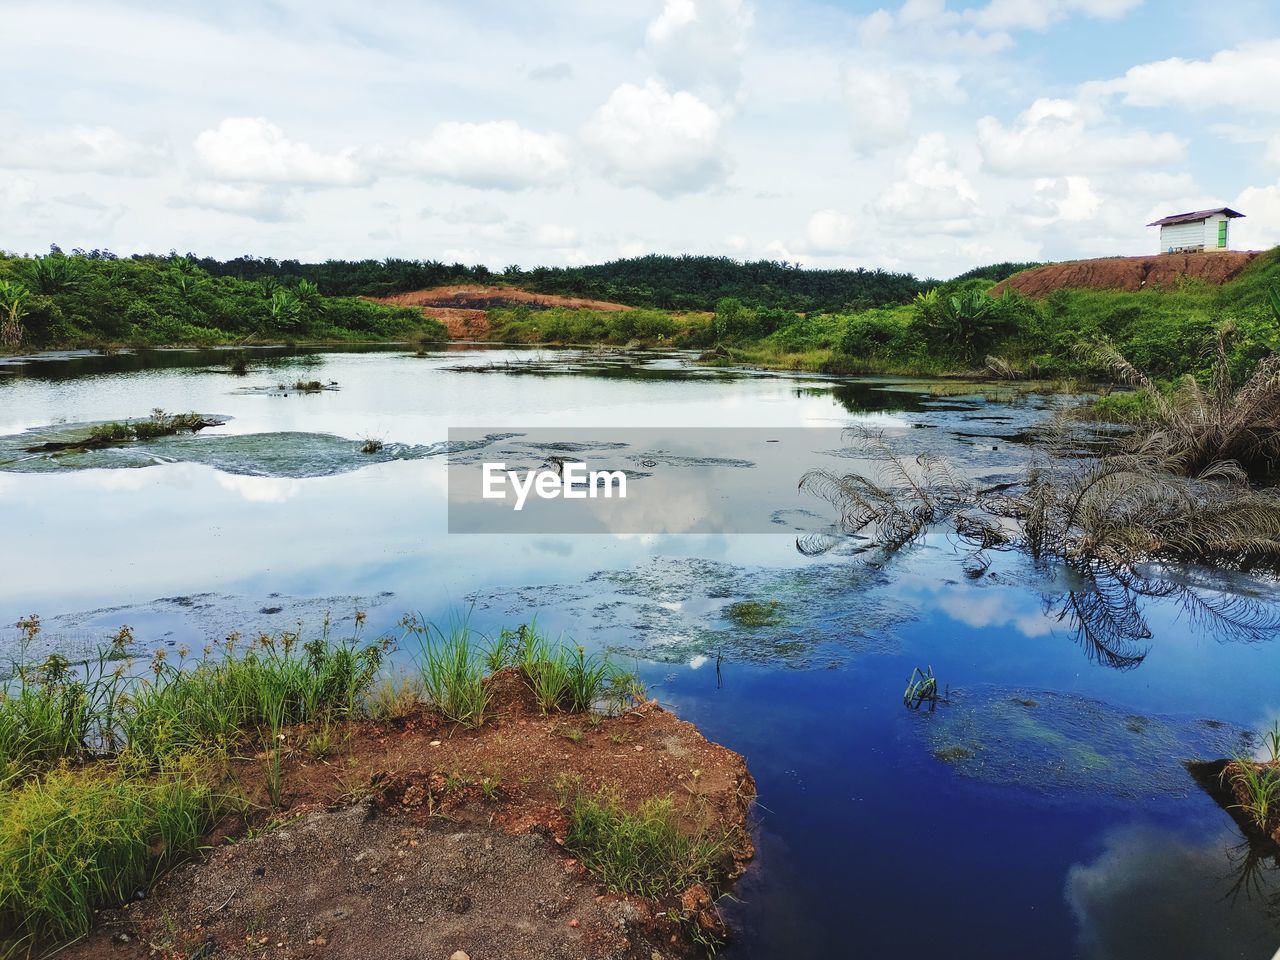
[[[315,283],[215,276],[189,257],[0,255],[0,352],[99,344],[445,339],[421,311]]]

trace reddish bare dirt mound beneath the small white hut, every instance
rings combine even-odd
[[[1256,256],[1256,251],[1228,251],[1074,260],[1023,270],[997,284],[991,293],[998,297],[1010,287],[1028,297],[1047,297],[1053,291],[1071,288],[1140,291],[1146,287],[1172,287],[1183,278],[1224,284],[1239,276]]]

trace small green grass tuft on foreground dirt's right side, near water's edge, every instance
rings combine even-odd
[[[695,883],[716,890],[727,844],[681,829],[671,797],[631,813],[607,794],[579,794],[567,808],[564,846],[609,890],[658,900]]]

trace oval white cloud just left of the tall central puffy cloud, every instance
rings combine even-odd
[[[388,151],[383,161],[398,173],[508,191],[558,183],[570,169],[559,137],[513,120],[440,123],[425,140]]]

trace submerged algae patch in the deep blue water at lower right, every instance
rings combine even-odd
[[[929,751],[965,777],[1120,799],[1188,796],[1196,785],[1185,760],[1230,756],[1252,740],[1219,721],[1039,690],[952,692],[948,707],[918,722]]]

